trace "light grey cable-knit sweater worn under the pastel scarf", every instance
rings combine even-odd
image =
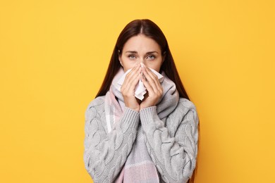
[[[126,107],[114,130],[108,133],[104,97],[91,101],[85,112],[84,162],[94,182],[114,182],[141,133],[160,181],[187,182],[197,158],[198,118],[194,104],[181,98],[163,119],[157,115],[157,106],[140,112]]]

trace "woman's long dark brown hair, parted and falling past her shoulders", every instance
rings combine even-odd
[[[164,71],[166,76],[176,84],[176,88],[178,89],[180,97],[190,100],[187,92],[183,87],[181,78],[178,75],[178,70],[176,69],[176,65],[173,61],[173,56],[169,49],[164,33],[155,23],[148,19],[133,20],[132,22],[128,23],[128,25],[126,25],[126,27],[124,27],[122,30],[121,34],[119,34],[116,41],[116,46],[114,47],[114,51],[111,55],[109,67],[102,83],[102,87],[100,87],[97,96],[104,96],[106,95],[106,92],[109,91],[114,76],[121,68],[118,56],[122,53],[124,44],[126,44],[128,39],[137,36],[138,34],[144,34],[145,36],[154,39],[154,41],[159,44],[161,47],[161,54],[164,56],[164,62],[161,65],[160,72]],[[189,183],[194,182],[195,172],[196,169],[194,170],[192,177],[190,177],[188,180]]]

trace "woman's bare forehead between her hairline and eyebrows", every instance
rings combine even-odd
[[[146,37],[144,34],[138,34],[137,36],[128,39],[123,46],[123,51],[158,51],[160,52],[160,46],[154,39]]]

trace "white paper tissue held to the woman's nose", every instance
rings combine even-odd
[[[143,65],[142,65],[143,66]],[[162,82],[162,80],[164,80],[164,76],[159,74],[159,72],[157,72],[156,70],[149,68],[150,70],[152,70],[152,72],[154,72],[155,75],[157,75],[159,82]],[[125,74],[123,76],[121,76],[121,78],[118,80],[118,86],[120,87],[119,91],[121,90],[121,86],[125,80],[126,75],[130,72],[129,69],[125,72]],[[138,99],[140,99],[140,101],[142,101],[144,99],[144,95],[147,93],[147,89],[145,88],[144,84],[142,83],[142,80],[140,80],[138,82],[138,84],[135,86],[135,97],[137,97]]]

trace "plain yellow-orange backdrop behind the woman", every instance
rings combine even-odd
[[[0,182],[92,182],[84,113],[131,20],[168,39],[200,115],[197,181],[275,182],[274,1],[0,1]]]

